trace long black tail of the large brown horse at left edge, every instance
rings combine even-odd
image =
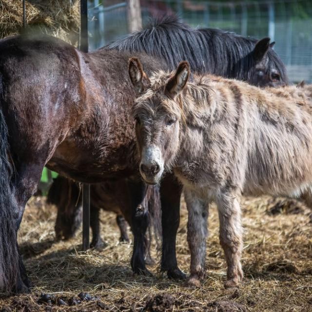
[[[12,173],[8,128],[0,109],[0,292],[14,290],[19,272],[16,218],[10,187]]]

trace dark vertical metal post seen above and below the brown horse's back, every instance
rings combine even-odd
[[[88,0],[80,0],[80,50],[87,53],[88,40]],[[82,186],[82,249],[89,249],[90,241],[90,184]]]

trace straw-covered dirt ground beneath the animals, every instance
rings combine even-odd
[[[210,209],[207,277],[201,289],[159,272],[153,248],[154,277],[134,276],[129,266],[132,245],[119,244],[115,215],[101,213],[102,251],[81,252],[81,229],[76,238],[55,243],[56,210],[44,198],[33,197],[25,210],[19,241],[33,284],[31,293],[0,298],[0,311],[207,311],[312,312],[311,212],[292,201],[270,197],[242,200],[244,282],[225,290],[225,260],[218,241],[218,216]],[[187,215],[182,205],[177,236],[180,268],[189,272]],[[278,208],[278,207],[277,207]],[[155,247],[155,246],[154,246]]]

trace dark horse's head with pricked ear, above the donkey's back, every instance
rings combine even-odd
[[[277,87],[287,84],[285,66],[278,58],[270,43],[270,38],[263,38],[256,42],[254,50],[249,55],[253,66],[249,71],[249,83],[259,87]]]

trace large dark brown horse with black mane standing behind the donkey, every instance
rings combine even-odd
[[[196,47],[202,49],[203,45],[194,45],[191,51],[190,40],[197,36],[201,38],[200,42],[205,42],[207,34],[203,36],[176,24],[170,30],[167,23],[165,28],[163,36],[170,34],[171,39],[185,40],[179,49],[186,49],[187,59],[196,58]],[[153,32],[159,30],[161,27]],[[181,37],[183,31],[185,36]],[[224,38],[225,34],[215,36]],[[268,39],[257,43],[232,36],[232,44],[241,48],[220,50],[218,57],[232,59],[229,58],[232,53],[235,66],[242,66],[237,75],[244,72],[249,81],[256,81],[259,76],[257,66],[261,63],[261,66],[269,66],[265,69],[269,74],[265,75],[265,80],[261,78],[261,85],[263,81],[273,85],[287,83],[285,68]],[[226,38],[229,37],[231,34],[226,34]],[[138,40],[142,42],[143,39]],[[159,38],[155,38],[154,43],[156,46]],[[173,54],[176,61],[181,60],[176,51],[168,46],[164,48]],[[152,54],[157,54],[157,51]],[[172,66],[167,59],[144,54],[138,56],[147,73],[159,67],[167,70]],[[0,41],[1,291],[25,291],[29,285],[18,256],[17,237],[12,233],[16,233],[20,226],[25,204],[36,191],[45,165],[64,176],[87,183],[134,178],[130,205],[133,229],[137,230],[134,231],[132,268],[134,272],[147,273],[142,252],[147,212],[137,214],[137,206],[146,187],[137,172],[134,121],[130,117],[135,92],[130,80],[125,79],[129,57],[127,52],[107,49],[84,54],[51,37],[25,36]],[[228,67],[231,66],[233,64],[228,63]],[[275,74],[271,75],[272,66],[274,72],[282,68],[278,79]],[[163,224],[161,267],[168,276],[181,277],[184,275],[177,267],[175,252],[181,187],[169,175],[164,178],[160,193]]]

